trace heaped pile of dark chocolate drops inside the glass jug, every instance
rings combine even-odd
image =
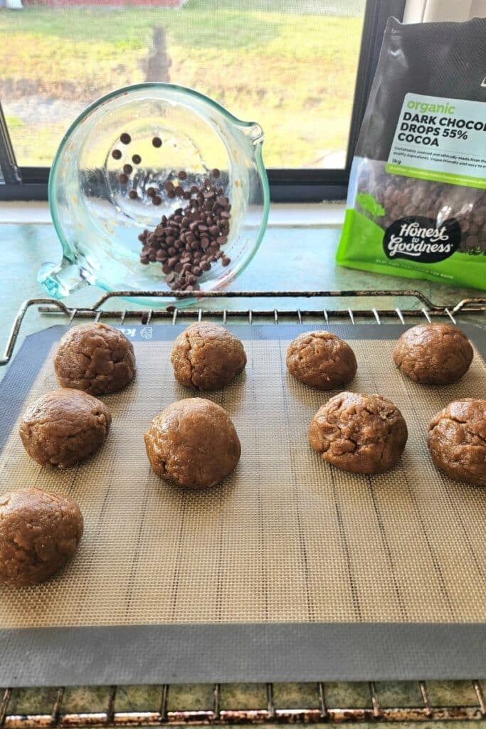
[[[216,168],[211,172],[213,178],[220,175]],[[230,233],[231,205],[223,188],[210,179],[184,190],[181,182],[187,179],[187,173],[182,170],[177,178],[177,185],[171,180],[165,182],[165,195],[169,199],[183,198],[187,205],[176,208],[171,215],[162,215],[152,232],[144,230],[138,235],[142,243],[140,262],[160,263],[172,291],[197,290],[197,279],[211,270],[213,263],[219,259],[224,266],[230,263],[221,246],[227,243]],[[162,198],[157,190],[149,187],[146,192],[154,205],[160,205]]]

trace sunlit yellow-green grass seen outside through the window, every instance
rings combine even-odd
[[[165,28],[170,80],[216,98],[264,128],[268,167],[321,166],[345,149],[362,16],[324,15],[315,0],[189,0],[179,10],[146,7],[0,12],[0,95],[28,93],[77,104],[146,80],[155,27]],[[281,8],[274,12],[273,8]],[[337,11],[356,4],[337,0]],[[19,117],[18,111],[15,113]],[[21,114],[20,114],[21,116]],[[17,121],[23,165],[50,165],[71,118]],[[20,123],[18,123],[20,122]]]

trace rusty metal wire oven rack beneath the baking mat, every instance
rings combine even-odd
[[[326,297],[345,298],[356,297],[413,297],[419,302],[418,308],[392,308],[384,309],[373,306],[365,309],[358,308],[181,308],[169,305],[165,308],[138,308],[110,310],[103,308],[103,305],[114,297],[137,297],[160,299],[167,297],[163,292],[110,292],[100,297],[90,307],[74,308],[63,302],[47,298],[35,298],[26,300],[19,308],[17,316],[12,324],[9,338],[0,359],[0,365],[7,364],[12,358],[15,344],[19,338],[23,319],[30,308],[37,307],[39,312],[44,314],[60,314],[66,317],[69,324],[75,319],[117,319],[120,325],[126,319],[138,319],[141,324],[149,326],[153,319],[161,319],[169,324],[176,324],[181,319],[202,319],[203,316],[221,319],[226,323],[228,319],[244,319],[252,324],[256,320],[270,319],[278,324],[280,321],[296,321],[304,324],[307,317],[321,321],[323,324],[332,323],[332,319],[338,321],[347,320],[351,324],[357,324],[358,318],[374,319],[381,324],[383,319],[392,319],[401,324],[407,324],[406,319],[418,316],[426,321],[432,321],[437,317],[456,323],[456,317],[461,314],[478,314],[486,311],[486,297],[465,298],[455,305],[435,305],[422,292],[415,290],[387,291],[321,291],[321,292],[216,292],[206,295],[205,299],[255,299],[272,298],[292,300],[302,298],[311,301]],[[171,296],[173,294],[171,293]],[[191,292],[178,293],[178,299],[184,300],[194,297]],[[1,660],[1,659],[0,659]],[[471,689],[475,701],[466,705],[438,706],[429,696],[426,682],[418,681],[415,684],[410,682],[410,687],[418,689],[421,701],[418,706],[388,706],[382,703],[379,698],[379,691],[374,682],[367,685],[369,693],[368,706],[328,706],[326,703],[326,684],[318,682],[313,690],[313,700],[309,701],[308,708],[281,708],[274,700],[275,686],[273,683],[264,685],[266,693],[266,705],[259,709],[230,709],[222,705],[222,687],[219,684],[213,686],[211,709],[201,711],[199,709],[176,709],[170,710],[169,693],[170,685],[160,686],[159,701],[155,706],[149,706],[144,711],[117,711],[117,693],[119,687],[106,687],[105,706],[103,711],[74,713],[68,712],[65,704],[66,690],[58,687],[55,690],[55,699],[52,707],[47,713],[26,713],[15,714],[9,712],[12,703],[12,689],[4,690],[3,698],[0,698],[0,729],[26,729],[28,727],[92,727],[92,726],[160,726],[160,725],[243,725],[243,724],[317,724],[324,722],[410,722],[410,721],[446,721],[446,720],[485,720],[486,699],[482,682],[477,679],[471,682]],[[453,693],[454,684],[451,682],[450,690]],[[1,697],[1,694],[0,694]],[[250,702],[248,702],[250,703]],[[452,703],[452,702],[450,702]],[[454,702],[455,703],[455,702]]]

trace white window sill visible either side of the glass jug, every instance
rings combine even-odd
[[[273,203],[268,227],[340,227],[344,221],[345,203]],[[0,203],[0,224],[50,225],[47,203]]]

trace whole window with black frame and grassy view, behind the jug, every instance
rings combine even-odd
[[[4,2],[0,166],[10,184],[0,185],[3,197],[45,195],[68,125],[98,96],[144,80],[195,87],[236,116],[258,121],[266,133],[264,162],[274,199],[322,199],[329,185],[334,197],[342,196],[383,26],[388,15],[401,17],[404,5],[403,0]],[[12,157],[23,184],[15,184]]]

